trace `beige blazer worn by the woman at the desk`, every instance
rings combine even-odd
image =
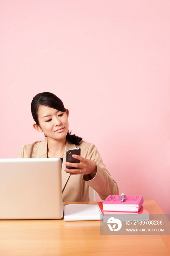
[[[112,179],[106,169],[101,155],[96,146],[85,141],[80,142],[80,146],[66,143],[62,164],[62,196],[64,202],[84,202],[89,199],[89,186],[92,187],[105,200],[108,195],[119,195],[116,182]],[[64,171],[66,162],[66,151],[71,148],[81,148],[81,156],[96,162],[97,173],[94,178],[86,175],[71,175]],[[24,145],[19,151],[18,158],[47,158],[47,138],[36,141],[32,144]]]

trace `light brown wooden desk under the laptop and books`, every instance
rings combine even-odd
[[[163,213],[155,201],[143,205],[150,213]],[[0,221],[0,255],[166,256],[170,236],[100,235],[100,221]]]

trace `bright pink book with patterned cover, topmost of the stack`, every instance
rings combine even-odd
[[[121,202],[121,196],[109,195],[103,202],[103,211],[138,212],[143,204],[143,196],[124,197],[124,202]]]

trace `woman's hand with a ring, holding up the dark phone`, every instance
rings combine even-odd
[[[73,158],[80,160],[80,163],[66,162],[65,165],[75,167],[76,169],[65,169],[67,173],[75,174],[90,174],[92,178],[96,175],[96,163],[92,160],[83,158],[81,155],[72,155]]]

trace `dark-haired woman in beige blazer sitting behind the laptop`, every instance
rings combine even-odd
[[[35,95],[31,103],[33,127],[44,132],[46,138],[32,144],[24,145],[18,158],[60,158],[62,160],[62,196],[65,202],[90,201],[89,186],[101,199],[108,195],[118,195],[119,189],[106,169],[96,146],[69,133],[69,110],[63,102],[52,93]],[[80,163],[66,162],[66,151],[81,148],[81,156],[73,155]],[[67,169],[73,166],[76,169]]]

